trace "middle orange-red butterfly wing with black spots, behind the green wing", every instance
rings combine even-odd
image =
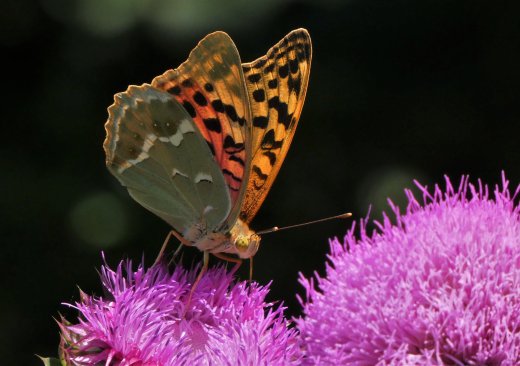
[[[251,150],[251,112],[235,44],[224,32],[211,33],[186,62],[156,77],[152,85],[183,105],[210,146],[229,187],[227,222],[232,226],[246,189]]]

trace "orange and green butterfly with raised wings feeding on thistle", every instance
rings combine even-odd
[[[241,63],[226,33],[207,35],[177,69],[114,96],[103,144],[109,171],[205,258],[252,258],[260,236],[249,224],[294,136],[311,47],[297,29]]]

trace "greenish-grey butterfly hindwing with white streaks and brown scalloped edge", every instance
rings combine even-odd
[[[231,210],[224,177],[193,119],[170,94],[130,86],[109,107],[110,172],[142,206],[184,233],[219,227]]]

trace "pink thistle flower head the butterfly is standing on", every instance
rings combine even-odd
[[[296,365],[296,331],[284,308],[265,303],[268,287],[234,283],[209,269],[186,306],[197,270],[165,266],[116,271],[101,280],[108,296],[81,294],[76,324],[62,319],[61,358],[70,365]]]

